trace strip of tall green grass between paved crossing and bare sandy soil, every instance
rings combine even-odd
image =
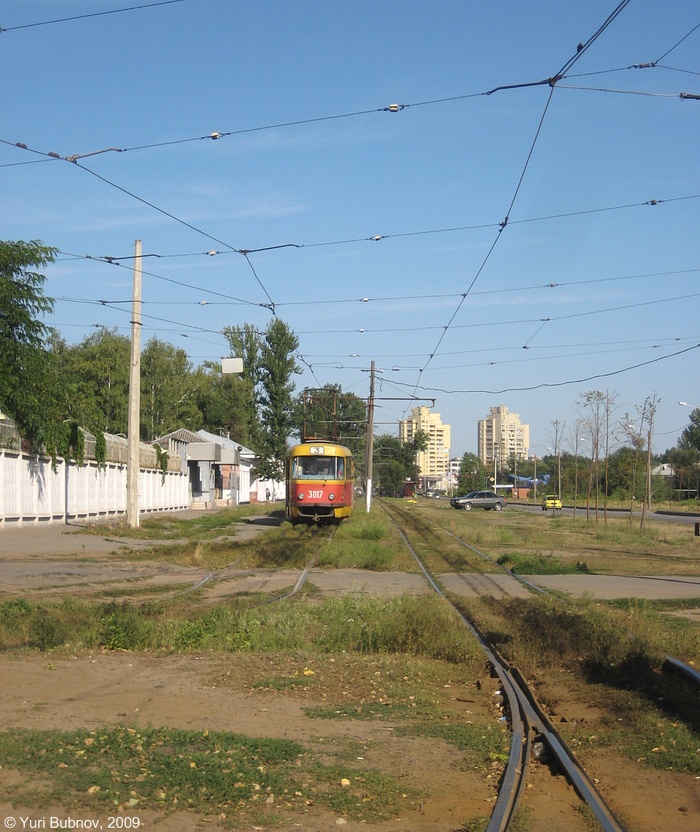
[[[245,608],[182,605],[0,604],[0,649],[70,647],[180,651],[304,650],[408,653],[447,662],[480,656],[459,619],[437,598],[332,598]]]

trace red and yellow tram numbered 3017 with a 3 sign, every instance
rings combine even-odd
[[[320,523],[352,514],[355,461],[349,448],[317,440],[287,454],[287,517]]]

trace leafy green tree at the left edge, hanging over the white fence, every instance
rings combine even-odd
[[[44,295],[44,275],[35,271],[55,255],[56,249],[37,241],[0,242],[0,410],[32,450],[51,443],[57,423],[50,329],[39,320],[53,300]]]

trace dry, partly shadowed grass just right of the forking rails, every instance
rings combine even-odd
[[[592,599],[565,603],[551,597],[482,599],[463,605],[526,676],[557,678],[565,670],[585,683],[587,698],[609,715],[611,725],[622,719],[648,734],[654,715],[659,726],[662,717],[669,720],[664,723],[669,731],[680,717],[684,744],[675,751],[687,770],[700,772],[695,751],[700,735],[697,693],[661,672],[667,655],[698,660],[693,622],[669,622],[636,599],[625,606]],[[540,693],[546,688],[545,682]],[[661,765],[664,759],[656,756],[654,762]]]

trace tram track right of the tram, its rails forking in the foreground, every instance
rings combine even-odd
[[[511,667],[499,654],[498,650],[484,633],[480,631],[475,622],[470,621],[449,600],[438,580],[430,573],[401,525],[397,522],[396,518],[401,515],[401,511],[396,509],[396,507],[389,509],[383,501],[380,505],[396,526],[428,583],[445,603],[450,604],[455,610],[463,624],[481,646],[488,664],[501,681],[504,702],[507,702],[507,717],[511,727],[511,751],[501,778],[498,798],[487,826],[487,832],[506,832],[506,830],[512,827],[520,798],[528,781],[529,765],[535,742],[543,743],[546,746],[550,758],[556,761],[557,766],[564,773],[564,776],[574,788],[579,798],[586,804],[592,815],[596,818],[603,832],[624,832],[624,827],[596,789],[593,780],[587,775],[573,752],[567,747],[562,737],[554,729],[522,675],[517,669]],[[403,519],[404,521],[407,519],[405,515]],[[442,527],[438,528],[442,529]],[[483,552],[460,540],[456,535],[452,535],[446,529],[442,529],[442,531],[450,534],[480,558],[497,565]],[[510,572],[510,570],[505,571],[509,572],[513,577],[518,577]],[[539,590],[539,588],[534,587],[529,581],[523,581],[523,583],[531,588],[533,592]]]

